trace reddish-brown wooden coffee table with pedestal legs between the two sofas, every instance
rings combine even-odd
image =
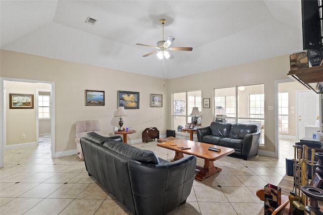
[[[234,149],[231,148],[214,146],[212,144],[205,144],[204,142],[196,142],[187,139],[175,139],[166,142],[159,142],[157,146],[175,151],[175,158],[173,161],[184,158],[183,154],[194,155],[197,158],[204,159],[203,167],[196,165],[196,169],[200,171],[196,174],[195,179],[199,181],[203,181],[205,178],[214,175],[222,170],[219,167],[214,167],[213,161],[216,161],[222,157],[234,153]],[[185,147],[191,149],[181,150],[178,147]],[[207,148],[209,147],[220,148],[221,152],[214,152],[208,150]]]

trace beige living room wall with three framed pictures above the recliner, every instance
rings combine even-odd
[[[124,126],[132,125],[137,130],[128,135],[128,141],[141,139],[146,127],[154,126],[160,134],[166,133],[165,107],[169,103],[164,99],[163,107],[150,107],[150,94],[163,94],[165,98],[167,80],[164,87],[160,78],[7,50],[1,50],[1,77],[55,83],[56,152],[76,149],[75,122],[78,120],[98,119],[102,133],[113,135],[113,127],[118,126],[119,120],[114,116],[118,90],[140,93],[140,109],[127,109],[128,116],[123,117]],[[85,106],[85,90],[105,91],[105,106]]]

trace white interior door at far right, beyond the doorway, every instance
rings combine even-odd
[[[315,125],[316,116],[319,114],[318,102],[318,94],[314,91],[297,92],[298,139],[305,136],[305,126]]]

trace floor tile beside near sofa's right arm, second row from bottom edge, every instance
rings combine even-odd
[[[217,186],[194,186],[197,201],[229,202],[222,190]]]

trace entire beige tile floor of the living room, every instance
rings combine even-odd
[[[0,169],[0,214],[131,214],[109,191],[89,177],[76,155],[50,158],[46,139],[38,147],[7,150]],[[255,195],[267,183],[285,175],[285,158],[293,156],[294,140],[281,141],[281,158],[256,156],[248,161],[225,157],[214,162],[222,172],[195,180],[185,204],[168,214],[258,214]],[[133,144],[171,160],[173,151],[156,142]],[[202,160],[197,161],[200,165]]]

